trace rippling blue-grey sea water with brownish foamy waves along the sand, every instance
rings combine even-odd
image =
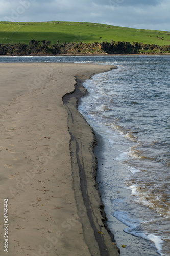
[[[93,127],[108,226],[120,255],[170,255],[170,56],[0,57],[0,62],[105,63],[78,109]],[[126,247],[123,248],[122,245]]]

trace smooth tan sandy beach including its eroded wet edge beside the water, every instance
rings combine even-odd
[[[1,255],[119,255],[95,182],[95,136],[77,110],[81,81],[110,68],[0,64]]]

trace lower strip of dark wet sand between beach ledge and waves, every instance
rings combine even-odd
[[[98,248],[98,253],[102,256],[117,256],[120,250],[116,246],[114,235],[107,226],[107,217],[96,182],[98,168],[98,161],[94,155],[94,148],[97,144],[96,137],[92,127],[77,109],[79,99],[87,93],[82,84],[87,78],[76,77],[74,92],[63,97],[68,112],[68,131],[71,136],[73,189],[80,216],[81,205],[86,207],[87,215],[81,219],[81,222],[84,239],[91,255],[94,255]],[[88,229],[85,228],[87,226]]]

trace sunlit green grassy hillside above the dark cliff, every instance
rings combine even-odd
[[[159,39],[158,37],[163,37]],[[99,39],[101,37],[101,39]],[[143,42],[170,45],[170,32],[132,29],[86,22],[0,22],[0,43],[28,44],[30,40],[59,42]]]

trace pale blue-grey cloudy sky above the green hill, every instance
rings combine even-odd
[[[170,31],[169,0],[0,0],[0,20],[70,21]]]

